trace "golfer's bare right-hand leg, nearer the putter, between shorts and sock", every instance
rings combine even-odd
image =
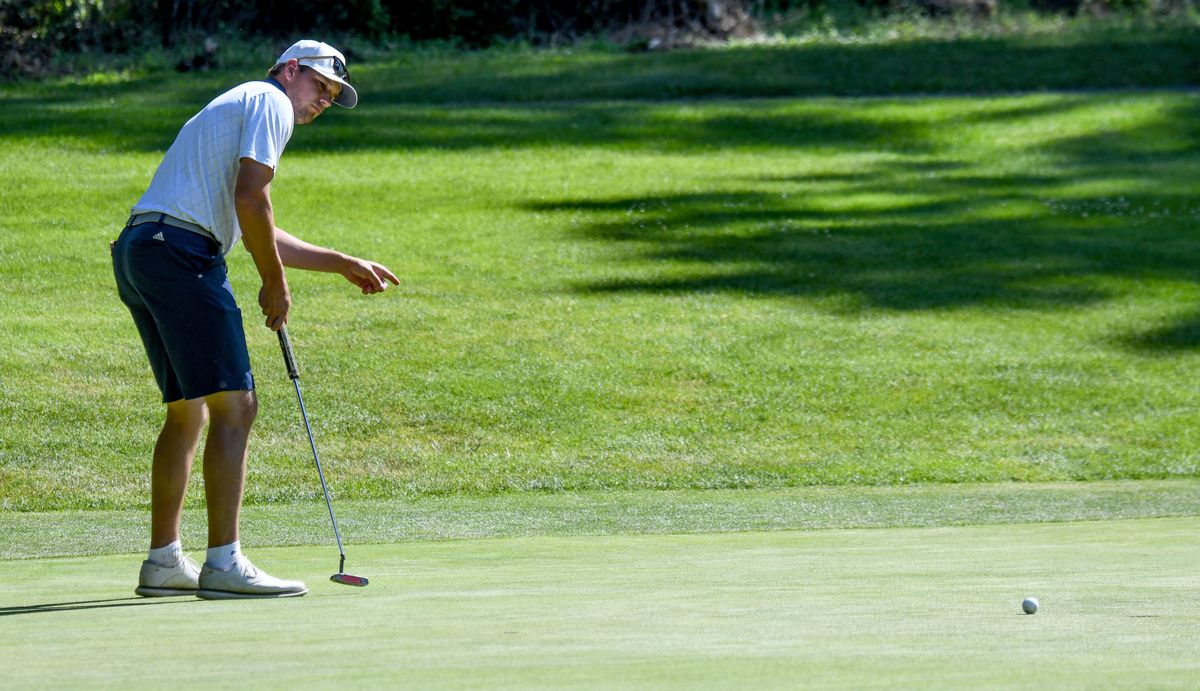
[[[204,444],[204,497],[209,504],[209,547],[235,542],[246,485],[246,445],[258,414],[253,391],[205,396],[209,438]]]

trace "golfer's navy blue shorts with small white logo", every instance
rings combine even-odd
[[[113,245],[113,271],[163,403],[254,389],[241,310],[216,241],[162,223],[126,227]]]

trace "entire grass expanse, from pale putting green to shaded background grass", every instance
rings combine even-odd
[[[0,86],[0,649],[54,661],[5,680],[1193,686],[1198,41],[371,54],[272,186],[403,277],[292,276],[366,590],[232,258],[276,602],[132,597],[161,405],[106,248],[259,70]]]

